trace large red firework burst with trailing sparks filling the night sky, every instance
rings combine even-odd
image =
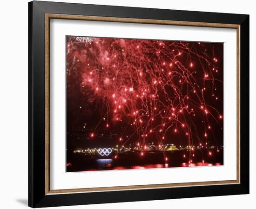
[[[67,37],[67,52],[67,99],[79,92],[75,105],[91,139],[107,129],[116,132],[113,143],[141,150],[174,138],[223,143],[222,44]]]

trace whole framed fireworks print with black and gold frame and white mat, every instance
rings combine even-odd
[[[28,11],[30,207],[249,193],[249,15]]]

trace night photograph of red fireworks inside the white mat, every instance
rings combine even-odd
[[[223,59],[223,43],[67,35],[66,172],[223,166]]]

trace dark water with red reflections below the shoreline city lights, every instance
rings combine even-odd
[[[195,150],[193,153],[187,150],[166,151],[165,155],[163,152],[146,152],[143,156],[140,153],[118,153],[116,159],[115,155],[67,155],[67,172],[223,165],[222,149]]]

